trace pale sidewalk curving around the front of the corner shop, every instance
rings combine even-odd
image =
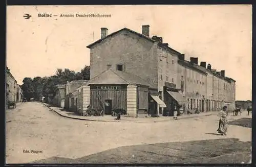
[[[42,103],[48,108],[52,109],[54,112],[57,114],[63,116],[63,117],[68,117],[68,118],[73,118],[76,120],[84,120],[84,121],[98,121],[98,122],[123,122],[123,121],[128,121],[128,122],[136,122],[136,123],[151,123],[151,122],[165,122],[165,121],[175,121],[172,116],[161,116],[161,117],[126,117],[121,115],[121,120],[115,120],[116,116],[111,116],[111,115],[104,115],[104,116],[80,116],[76,115],[72,111],[63,111],[62,108],[60,107],[53,107],[50,104],[47,103]],[[209,112],[201,112],[200,114],[184,114],[181,116],[178,116],[178,120],[184,119],[184,118],[193,118],[193,117],[201,117],[201,116],[209,116],[209,115],[217,115],[217,111],[209,111]]]

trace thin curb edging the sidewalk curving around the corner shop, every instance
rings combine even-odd
[[[67,115],[63,115],[61,113],[59,113],[58,111],[55,111],[54,109],[52,109],[51,107],[47,106],[47,103],[42,103],[44,104],[46,107],[48,107],[49,109],[51,109],[52,111],[54,111],[55,113],[57,113],[60,116],[66,117],[66,118],[71,118],[74,120],[83,120],[83,121],[94,121],[94,122],[121,122],[121,121],[104,121],[104,120],[89,120],[89,119],[85,119],[85,118],[76,118],[76,117],[70,117]],[[215,113],[209,113],[209,114],[205,114],[205,115],[193,115],[193,116],[187,116],[187,117],[181,117],[178,118],[178,120],[182,120],[182,119],[186,119],[186,118],[195,118],[195,117],[202,117],[202,116],[210,116],[210,115],[214,115]],[[159,121],[152,121],[152,122],[137,122],[137,121],[130,121],[130,120],[125,120],[126,122],[135,122],[135,123],[157,123],[157,122],[166,122],[166,121],[175,121],[175,120],[159,120]]]

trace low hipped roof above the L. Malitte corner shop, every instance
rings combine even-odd
[[[91,79],[88,84],[139,84],[153,87],[151,84],[134,74],[114,69],[103,71],[103,73]]]

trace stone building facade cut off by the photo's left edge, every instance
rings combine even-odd
[[[6,102],[17,101],[17,81],[12,76],[10,69],[6,68]]]

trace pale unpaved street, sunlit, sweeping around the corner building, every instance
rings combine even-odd
[[[246,114],[243,112],[237,118],[249,117]],[[229,125],[227,136],[216,135],[217,115],[170,120],[158,123],[73,120],[61,117],[41,103],[27,102],[6,111],[6,163],[29,163],[51,157],[77,159],[123,146],[164,142],[228,138],[251,141],[251,128],[242,126]]]

